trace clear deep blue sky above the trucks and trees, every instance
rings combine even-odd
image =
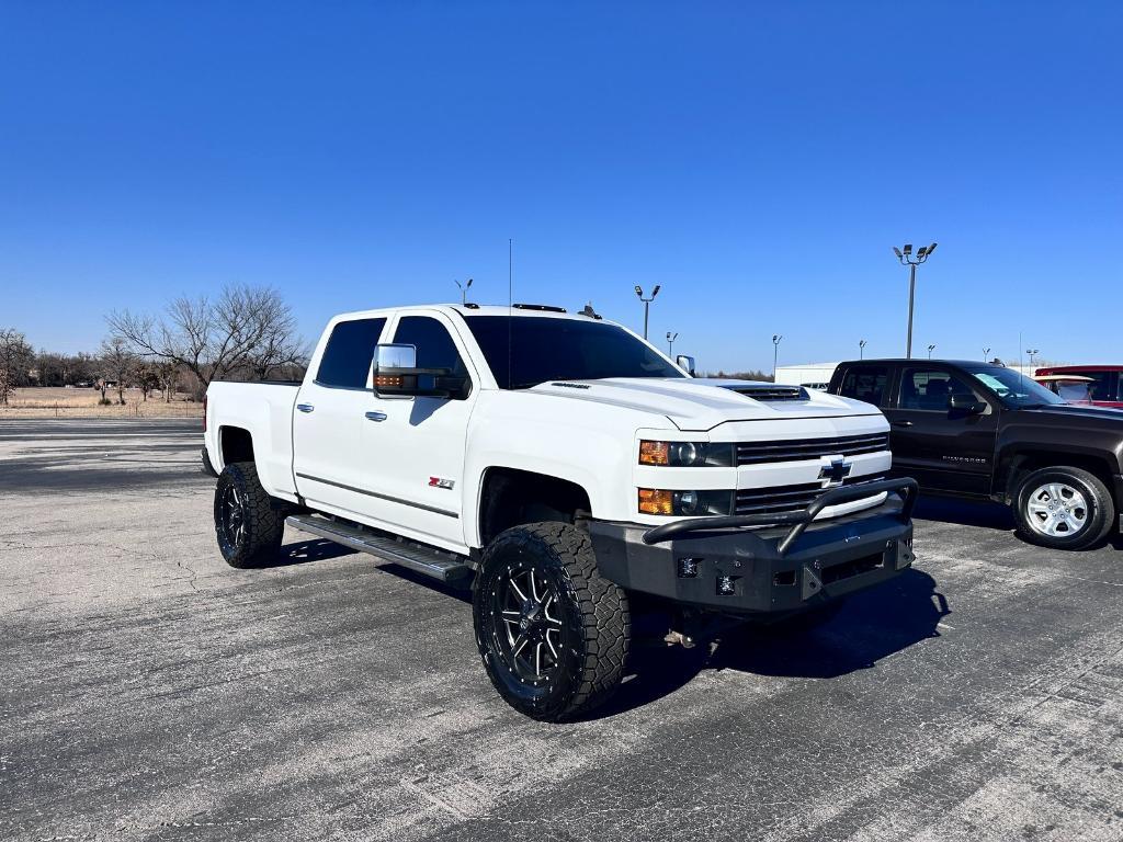
[[[1115,2],[0,6],[0,324],[271,284],[579,308],[703,367],[1123,361]],[[611,7],[611,8],[610,8]]]

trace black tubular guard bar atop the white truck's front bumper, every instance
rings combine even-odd
[[[882,493],[896,493],[903,505],[901,506],[900,516],[902,522],[907,523],[912,518],[913,506],[916,505],[916,494],[919,487],[916,481],[911,477],[902,477],[901,479],[882,479],[877,483],[865,483],[862,485],[853,485],[850,487],[842,486],[840,488],[831,488],[828,492],[823,492],[819,497],[816,497],[811,505],[806,509],[797,512],[777,512],[775,514],[723,514],[713,518],[690,518],[686,520],[675,521],[674,523],[664,523],[661,527],[655,527],[649,529],[643,533],[643,543],[663,543],[664,541],[669,541],[672,538],[677,538],[690,532],[707,532],[719,529],[737,529],[739,527],[792,527],[791,531],[784,536],[784,539],[776,546],[776,551],[783,556],[791,548],[792,544],[798,540],[800,536],[803,534],[804,530],[811,525],[811,522],[819,516],[828,506],[841,505],[842,503],[852,503],[856,500],[862,500],[864,497],[873,497],[875,494]],[[882,503],[878,509],[886,505],[888,501]],[[876,509],[867,511],[877,511]]]

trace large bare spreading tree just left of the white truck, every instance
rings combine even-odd
[[[200,392],[212,379],[239,372],[265,377],[302,359],[292,311],[270,287],[227,286],[214,301],[175,299],[161,319],[126,310],[107,321],[143,357],[193,374]]]

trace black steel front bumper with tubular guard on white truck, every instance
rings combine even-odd
[[[777,515],[694,518],[649,528],[593,521],[601,575],[630,591],[724,613],[791,612],[896,576],[913,562],[913,479],[825,492]],[[827,506],[879,492],[886,502],[813,522]],[[755,527],[755,529],[747,529]]]

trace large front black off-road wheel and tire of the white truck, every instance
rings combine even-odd
[[[531,587],[537,593],[526,593]],[[520,608],[528,623],[522,631],[521,621],[504,619],[514,612],[503,611],[519,603],[519,593],[528,597]],[[539,615],[527,604],[546,607]],[[484,551],[472,607],[487,676],[503,699],[528,716],[578,717],[603,704],[623,679],[631,640],[628,594],[601,576],[588,534],[576,527],[532,523],[499,534]],[[538,642],[524,642],[521,650],[527,665],[512,655],[523,634],[538,634],[528,638]],[[536,661],[527,646],[542,647],[546,669],[531,668]]]

